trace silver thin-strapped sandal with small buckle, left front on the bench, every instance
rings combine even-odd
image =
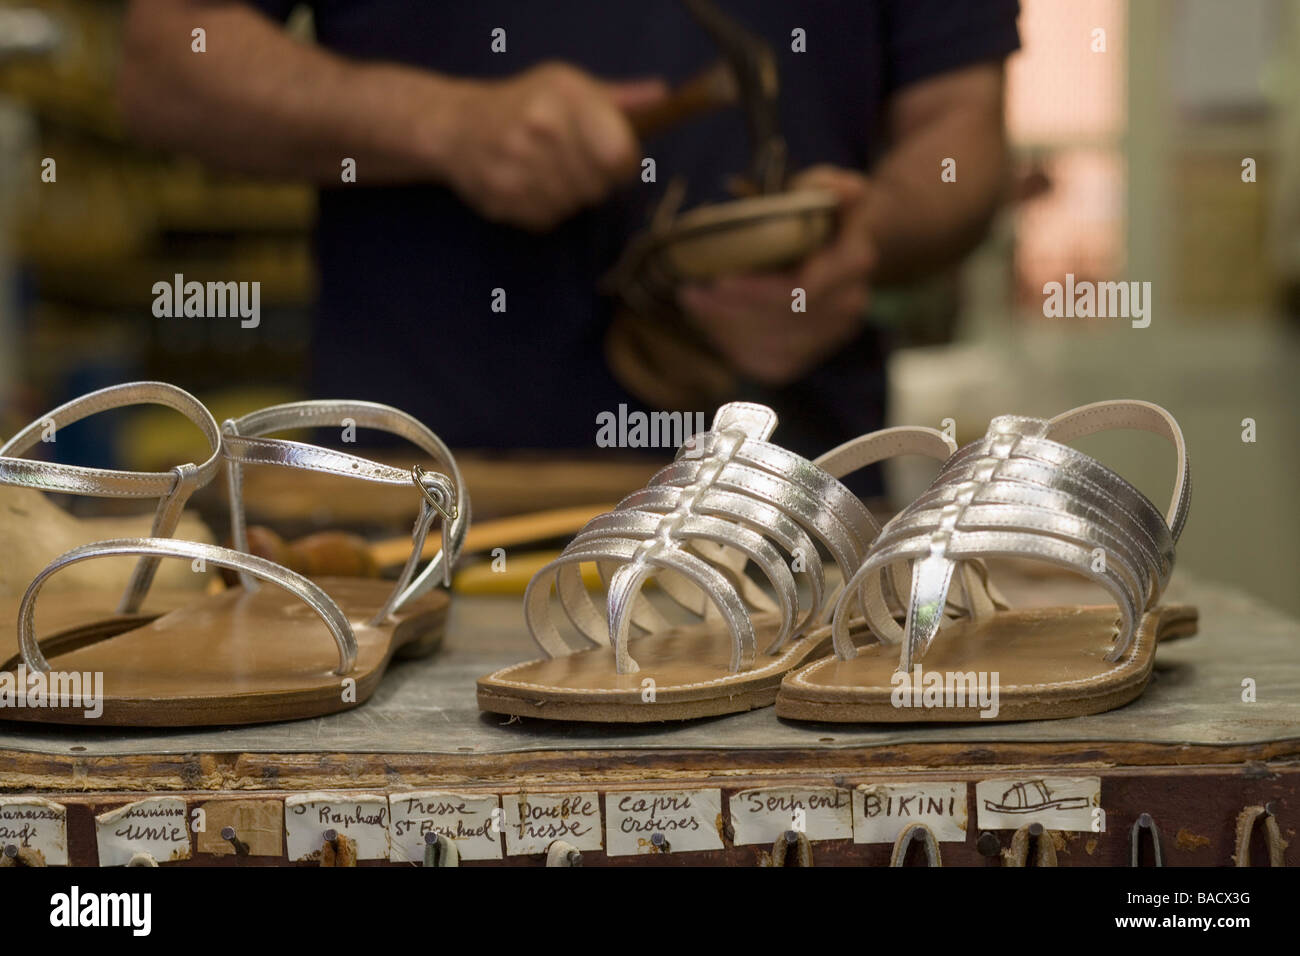
[[[442,473],[265,437],[329,425],[398,434],[429,454]],[[72,564],[122,554],[183,558],[199,567],[237,571],[240,587],[192,601],[110,641],[61,654],[55,661],[60,672],[105,675],[100,714],[51,705],[10,717],[122,726],[317,717],[364,702],[395,653],[428,653],[438,645],[448,598],[434,585],[450,580],[469,522],[469,498],[451,453],[432,431],[396,408],[369,402],[281,405],[226,421],[221,431],[235,548],[148,537],[101,541],[62,554],[23,596],[20,661],[29,671],[51,671],[35,636],[35,604],[44,583]],[[411,558],[396,584],[354,578],[313,581],[246,553],[242,477],[248,464],[317,471],[412,493],[420,511]],[[421,570],[421,548],[436,520],[442,525],[442,549]]]

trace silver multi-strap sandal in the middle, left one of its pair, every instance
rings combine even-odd
[[[480,679],[478,706],[644,722],[770,705],[781,676],[829,639],[833,594],[819,548],[842,579],[879,532],[838,477],[893,455],[944,460],[952,450],[935,429],[889,428],[809,462],[767,441],[775,427],[771,408],[723,406],[673,464],[593,519],[524,596],[547,658]],[[607,591],[603,614],[584,564]],[[651,578],[664,600],[641,593]],[[552,591],[567,631],[552,619]],[[670,617],[673,604],[689,623]]]

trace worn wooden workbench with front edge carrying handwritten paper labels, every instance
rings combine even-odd
[[[1105,831],[1054,832],[1061,865],[1127,865],[1130,830],[1143,813],[1160,829],[1166,864],[1230,865],[1243,808],[1269,805],[1288,842],[1300,827],[1300,623],[1239,592],[1186,579],[1174,583],[1169,598],[1200,607],[1200,636],[1162,646],[1145,695],[1108,714],[852,726],[785,722],[764,709],[608,727],[481,714],[474,678],[533,650],[517,598],[458,597],[446,646],[432,658],[395,665],[356,710],[225,730],[0,723],[0,790],[64,804],[70,860],[86,865],[98,862],[95,814],[146,795],[174,795],[195,808],[218,800],[274,806],[306,791],[595,792],[604,806],[611,792],[708,790],[722,796],[723,848],[653,857],[590,849],[585,864],[755,865],[768,860],[771,847],[734,843],[728,808],[738,791],[1100,778]],[[1254,702],[1243,701],[1247,679],[1256,683]],[[944,864],[997,864],[976,845],[975,787],[967,790],[966,839],[942,844]],[[1010,834],[998,836],[1005,847]],[[235,856],[216,844],[198,840],[199,849],[182,862],[289,862],[285,855]],[[816,842],[812,849],[818,865],[880,865],[890,852],[884,843],[846,838]],[[1257,849],[1256,862],[1262,857]],[[502,862],[541,860],[506,855]]]

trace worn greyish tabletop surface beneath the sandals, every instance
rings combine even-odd
[[[81,760],[125,754],[507,754],[572,750],[802,750],[897,748],[1006,753],[1123,748],[1118,762],[1230,762],[1300,753],[1300,622],[1206,583],[1175,580],[1167,600],[1200,607],[1199,636],[1160,650],[1156,679],[1117,711],[1063,721],[974,724],[807,724],[763,709],[680,724],[611,727],[481,714],[474,679],[533,657],[517,598],[456,597],[445,648],[393,666],[376,696],[318,719],[234,728],[83,730],[0,722],[0,753]],[[1256,701],[1243,701],[1243,682]],[[1144,756],[1145,754],[1145,756]],[[1178,757],[1182,754],[1182,757]],[[1199,754],[1199,756],[1197,756]],[[1217,754],[1217,756],[1216,756]],[[884,758],[884,757],[883,757]],[[931,762],[926,760],[924,762]]]

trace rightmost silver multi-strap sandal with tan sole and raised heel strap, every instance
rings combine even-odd
[[[1164,516],[1119,475],[1062,444],[1112,428],[1153,432],[1174,445],[1178,473]],[[1150,680],[1157,641],[1196,632],[1193,607],[1157,606],[1190,499],[1183,433],[1156,405],[1098,402],[1050,420],[993,419],[984,438],[954,454],[885,525],[840,594],[835,654],[786,676],[776,713],[1024,721],[1127,704]],[[1011,610],[994,588],[970,587],[987,575],[975,564],[984,558],[1078,572],[1115,606]],[[957,615],[948,613],[954,579]],[[854,646],[855,609],[879,643]]]

